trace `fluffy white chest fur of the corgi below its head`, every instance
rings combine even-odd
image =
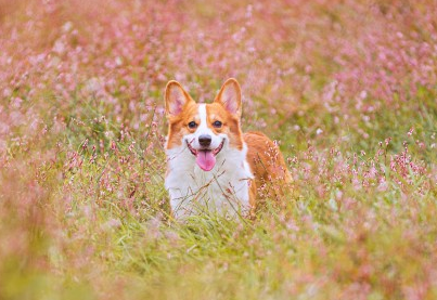
[[[249,179],[246,149],[228,149],[217,158],[213,170],[203,171],[185,149],[167,152],[166,188],[175,218],[206,211],[227,216],[249,211]]]

